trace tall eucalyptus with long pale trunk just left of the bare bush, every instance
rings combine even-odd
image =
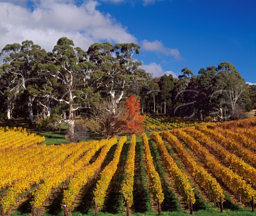
[[[53,89],[47,89],[43,96],[66,104],[68,107],[68,137],[74,139],[75,117],[79,109],[90,108],[90,96],[93,94],[87,82],[88,73],[94,67],[87,61],[87,54],[67,37],[61,37],[53,51],[47,53],[45,63],[39,65],[47,82]]]

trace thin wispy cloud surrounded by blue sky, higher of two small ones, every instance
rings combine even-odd
[[[167,48],[160,41],[150,42],[147,40],[143,40],[142,49],[150,52],[158,52],[158,53],[163,53],[165,55],[170,55],[177,61],[182,60],[181,54],[178,49]]]

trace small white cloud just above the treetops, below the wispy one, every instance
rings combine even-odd
[[[147,73],[153,74],[153,77],[161,77],[164,74],[171,74],[174,78],[178,78],[178,75],[171,70],[164,71],[161,65],[158,65],[156,62],[152,62],[149,65],[140,66],[141,69],[144,69]]]

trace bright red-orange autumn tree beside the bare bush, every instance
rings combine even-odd
[[[130,95],[129,98],[125,101],[125,109],[126,109],[126,126],[127,131],[131,134],[142,133],[145,130],[145,126],[143,122],[145,121],[145,115],[140,114],[140,101],[136,95]]]

